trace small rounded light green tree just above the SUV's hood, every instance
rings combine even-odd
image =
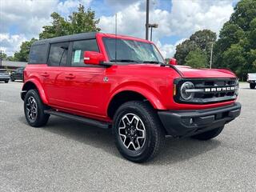
[[[200,50],[191,50],[185,58],[186,66],[191,66],[193,68],[205,68],[207,66],[207,55],[206,51]]]

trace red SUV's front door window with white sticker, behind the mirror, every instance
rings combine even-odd
[[[76,41],[73,43],[71,66],[85,66],[83,63],[84,51],[98,51],[96,39]]]

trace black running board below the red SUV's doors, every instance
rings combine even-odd
[[[64,112],[56,111],[56,110],[44,110],[44,112],[45,112],[45,114],[53,114],[53,115],[56,115],[56,116],[59,116],[62,118],[70,118],[77,122],[84,122],[90,126],[98,126],[102,129],[109,129],[110,125],[111,125],[109,122],[101,122],[101,121],[94,120],[91,118],[84,118],[84,117],[81,117],[81,116],[78,116],[75,114],[67,114]]]

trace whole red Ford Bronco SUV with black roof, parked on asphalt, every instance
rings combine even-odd
[[[166,135],[214,138],[241,111],[230,70],[166,64],[153,42],[102,33],[34,42],[21,97],[30,126],[58,115],[111,128],[134,162],[153,158]]]

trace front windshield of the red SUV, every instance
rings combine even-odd
[[[164,63],[154,44],[120,38],[103,38],[103,42],[110,62]]]

